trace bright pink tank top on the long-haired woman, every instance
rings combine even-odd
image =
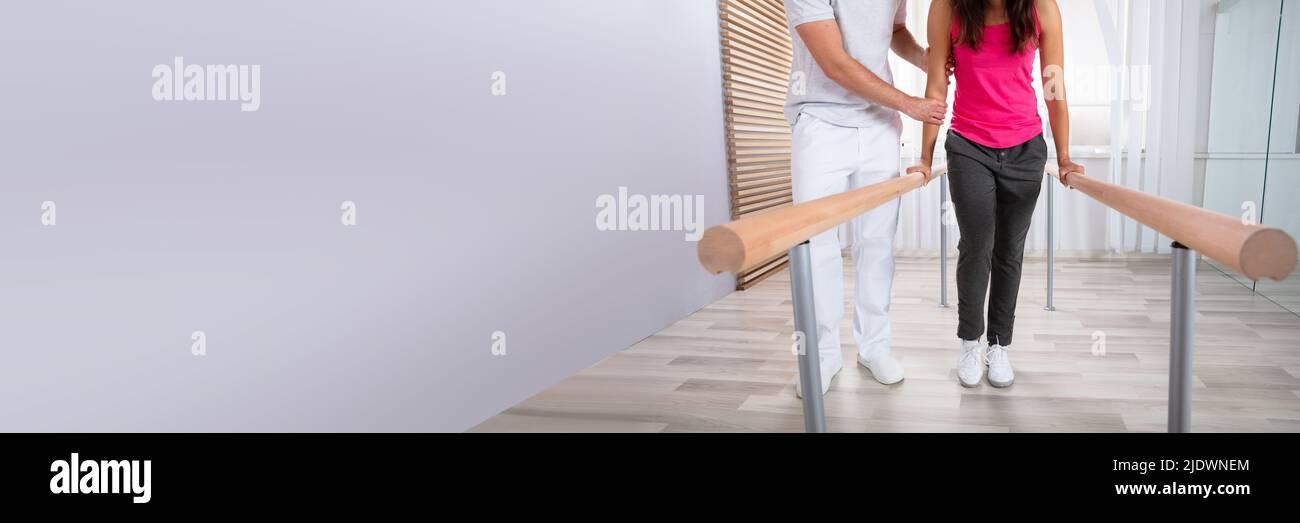
[[[1011,53],[1011,26],[985,26],[979,51],[958,44],[959,21],[953,20],[953,59],[957,98],[953,101],[952,129],[975,143],[994,148],[1015,147],[1043,133],[1039,96],[1034,91],[1031,42]],[[1034,33],[1041,34],[1037,8]]]

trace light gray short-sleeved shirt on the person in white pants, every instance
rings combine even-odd
[[[893,125],[900,120],[897,111],[872,104],[827,78],[796,27],[820,20],[838,21],[849,56],[893,85],[889,43],[894,23],[906,22],[906,0],[785,0],[785,17],[794,44],[790,90],[785,100],[785,117],[790,125],[800,113],[846,127]]]

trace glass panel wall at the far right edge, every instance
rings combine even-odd
[[[1300,238],[1300,0],[1222,0],[1213,39],[1201,204]],[[1219,269],[1300,314],[1300,277]]]

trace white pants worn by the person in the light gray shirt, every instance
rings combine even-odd
[[[844,193],[898,176],[902,122],[874,127],[841,127],[800,114],[792,139],[794,203]],[[852,248],[858,273],[854,291],[853,340],[858,354],[889,354],[889,294],[893,286],[893,242],[898,229],[898,200],[885,203],[853,221]],[[842,359],[840,321],[844,319],[844,260],[838,228],[812,237],[812,299],[822,362]]]

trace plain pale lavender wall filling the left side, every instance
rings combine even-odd
[[[459,431],[731,289],[594,225],[727,219],[711,1],[6,1],[0,64],[3,431]]]

